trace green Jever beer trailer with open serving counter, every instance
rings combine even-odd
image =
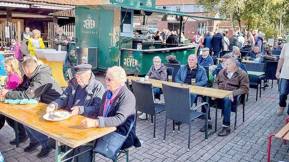
[[[183,20],[222,20],[156,9],[154,0],[115,0],[112,3],[114,4],[75,6],[77,64],[91,63],[94,64],[94,70],[99,71],[112,66],[122,66],[126,71],[133,71],[138,66],[140,75],[148,72],[154,56],[160,56],[162,62],[166,62],[166,56],[175,55],[181,64],[187,64],[187,57],[195,53],[197,46],[179,44],[168,48],[166,44],[142,38],[143,35],[137,37],[134,33],[137,29],[134,28],[139,28],[141,32],[147,31],[147,28],[145,25],[135,27],[133,22],[138,20],[145,24],[146,21],[153,20],[178,21],[182,29]],[[133,43],[139,39],[143,39],[144,49],[133,49]],[[80,50],[86,47],[90,48]]]

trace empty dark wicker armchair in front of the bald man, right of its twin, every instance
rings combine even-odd
[[[166,107],[166,119],[165,119],[165,131],[164,140],[166,140],[166,126],[167,119],[175,120],[178,122],[189,124],[189,137],[188,137],[188,149],[190,151],[190,141],[191,141],[191,122],[201,115],[206,116],[206,141],[208,139],[208,112],[209,104],[201,103],[198,106],[191,108],[191,97],[189,88],[181,88],[170,86],[167,84],[162,84],[162,89],[164,92],[165,107]],[[206,113],[201,113],[196,111],[202,105],[206,105]],[[173,122],[174,127],[174,122]],[[180,127],[179,127],[180,130]]]

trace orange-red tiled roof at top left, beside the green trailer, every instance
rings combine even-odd
[[[6,2],[57,4],[57,5],[101,5],[109,3],[106,0],[5,0]]]

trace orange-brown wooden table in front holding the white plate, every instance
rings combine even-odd
[[[19,122],[27,127],[47,135],[48,137],[55,139],[55,161],[57,162],[60,162],[60,159],[62,158],[60,156],[61,145],[65,144],[69,147],[75,148],[80,145],[85,145],[90,141],[94,141],[94,143],[91,143],[91,145],[95,145],[95,140],[97,138],[116,130],[116,127],[85,129],[80,125],[80,121],[86,117],[80,115],[71,116],[66,120],[58,122],[48,121],[43,118],[43,115],[46,113],[46,107],[47,105],[44,103],[15,105],[5,104],[2,102],[0,103],[0,113],[16,121],[15,134],[17,137],[17,122]],[[18,139],[17,137],[16,139]]]

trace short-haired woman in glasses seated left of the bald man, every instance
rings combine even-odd
[[[151,69],[149,69],[146,76],[149,76],[151,79],[168,81],[168,76],[166,72],[167,67],[164,66],[164,64],[162,63],[162,59],[159,56],[155,56],[152,60],[154,65],[151,67]],[[162,94],[162,89],[156,87],[153,89],[153,92],[154,96],[160,95]],[[139,116],[139,118],[146,119],[146,114],[143,113]]]

